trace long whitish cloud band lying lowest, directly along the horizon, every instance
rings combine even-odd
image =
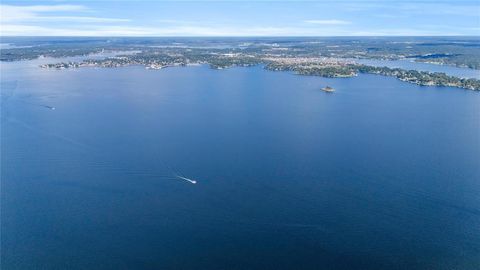
[[[473,31],[477,28],[468,29]],[[458,30],[458,29],[454,29]],[[467,30],[467,29],[465,29]],[[478,29],[477,29],[478,30]],[[2,25],[4,36],[439,36],[455,35],[456,32],[435,29],[352,29],[305,28],[305,27],[240,27],[240,26],[194,26],[145,27],[126,25],[83,25],[80,27],[50,27],[22,24]]]

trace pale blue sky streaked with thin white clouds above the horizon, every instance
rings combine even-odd
[[[480,0],[2,0],[2,36],[480,35]]]

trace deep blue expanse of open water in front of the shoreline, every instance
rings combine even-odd
[[[479,104],[376,75],[2,64],[2,269],[479,269]]]

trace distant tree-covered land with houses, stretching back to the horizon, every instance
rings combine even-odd
[[[393,76],[424,86],[480,91],[480,80],[405,68],[360,64],[360,59],[405,60],[480,72],[479,37],[305,37],[305,38],[35,38],[2,40],[1,61],[41,57],[99,57],[42,64],[42,68],[123,67],[147,69],[210,65],[214,69],[263,65],[301,75]]]

